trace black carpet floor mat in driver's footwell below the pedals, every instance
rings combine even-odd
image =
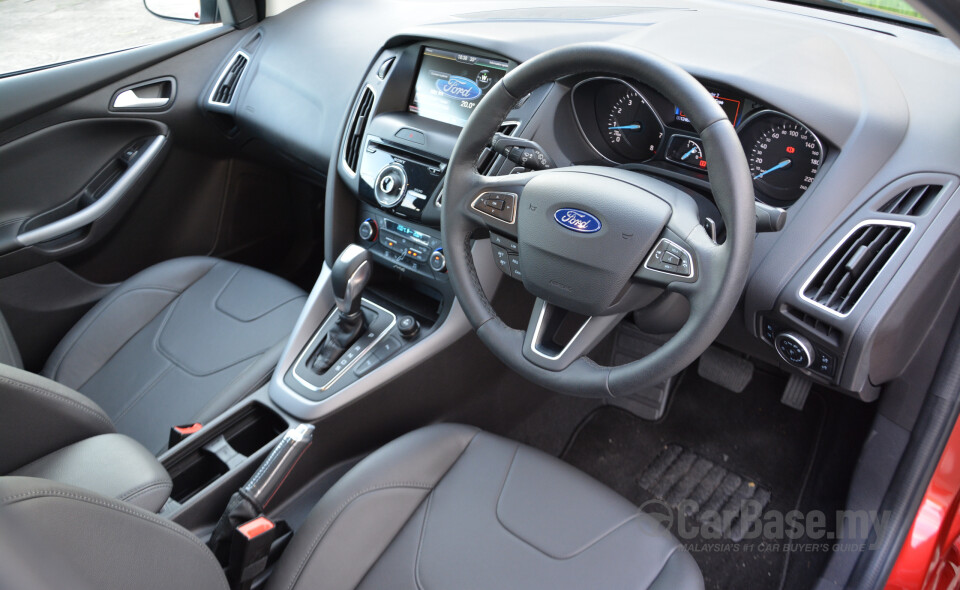
[[[794,576],[800,566],[797,575],[803,579],[791,579],[789,586],[810,587],[829,553],[811,557],[815,540],[789,539],[784,531],[768,535],[760,525],[766,526],[770,514],[807,508],[801,500],[809,475],[817,473],[824,441],[832,444],[838,437],[836,442],[853,446],[852,467],[862,438],[849,438],[865,430],[850,422],[859,425],[868,412],[816,389],[802,411],[788,408],[779,403],[784,383],[779,374],[758,371],[745,391],[732,393],[687,371],[663,420],[596,409],[574,432],[562,458],[661,522],[669,518],[707,588],[778,589],[785,572]],[[828,420],[838,405],[844,419]],[[815,508],[828,515],[827,527],[833,526],[829,514],[842,507],[847,485],[842,477],[817,482]],[[774,536],[778,540],[769,541]],[[788,558],[799,552],[807,553]]]

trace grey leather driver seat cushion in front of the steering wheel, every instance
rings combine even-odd
[[[477,429],[437,425],[358,464],[317,504],[271,590],[703,588],[657,521],[587,475]]]

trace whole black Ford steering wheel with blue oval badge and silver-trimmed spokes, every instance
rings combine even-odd
[[[478,172],[481,152],[521,97],[584,73],[643,82],[690,119],[703,140],[710,186],[726,224],[722,244],[701,225],[691,196],[648,175],[601,166],[497,177]],[[507,214],[491,215],[497,207]],[[542,53],[490,90],[454,148],[442,213],[450,283],[483,343],[530,381],[588,397],[641,391],[707,349],[743,291],[755,223],[746,157],[716,100],[663,58],[602,43]],[[525,331],[503,323],[480,286],[470,246],[487,231],[515,239],[519,247],[523,286],[537,297]],[[628,312],[664,291],[685,296],[690,314],[663,346],[616,367],[585,356]]]

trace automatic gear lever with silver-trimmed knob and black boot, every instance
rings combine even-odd
[[[337,302],[338,317],[318,347],[311,364],[318,374],[332,367],[363,332],[365,326],[360,295],[370,281],[372,271],[370,253],[356,244],[347,246],[333,264],[330,283]]]

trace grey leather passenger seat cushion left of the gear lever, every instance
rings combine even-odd
[[[120,284],[64,337],[43,375],[87,395],[154,453],[261,386],[306,301],[271,274],[206,257]]]

